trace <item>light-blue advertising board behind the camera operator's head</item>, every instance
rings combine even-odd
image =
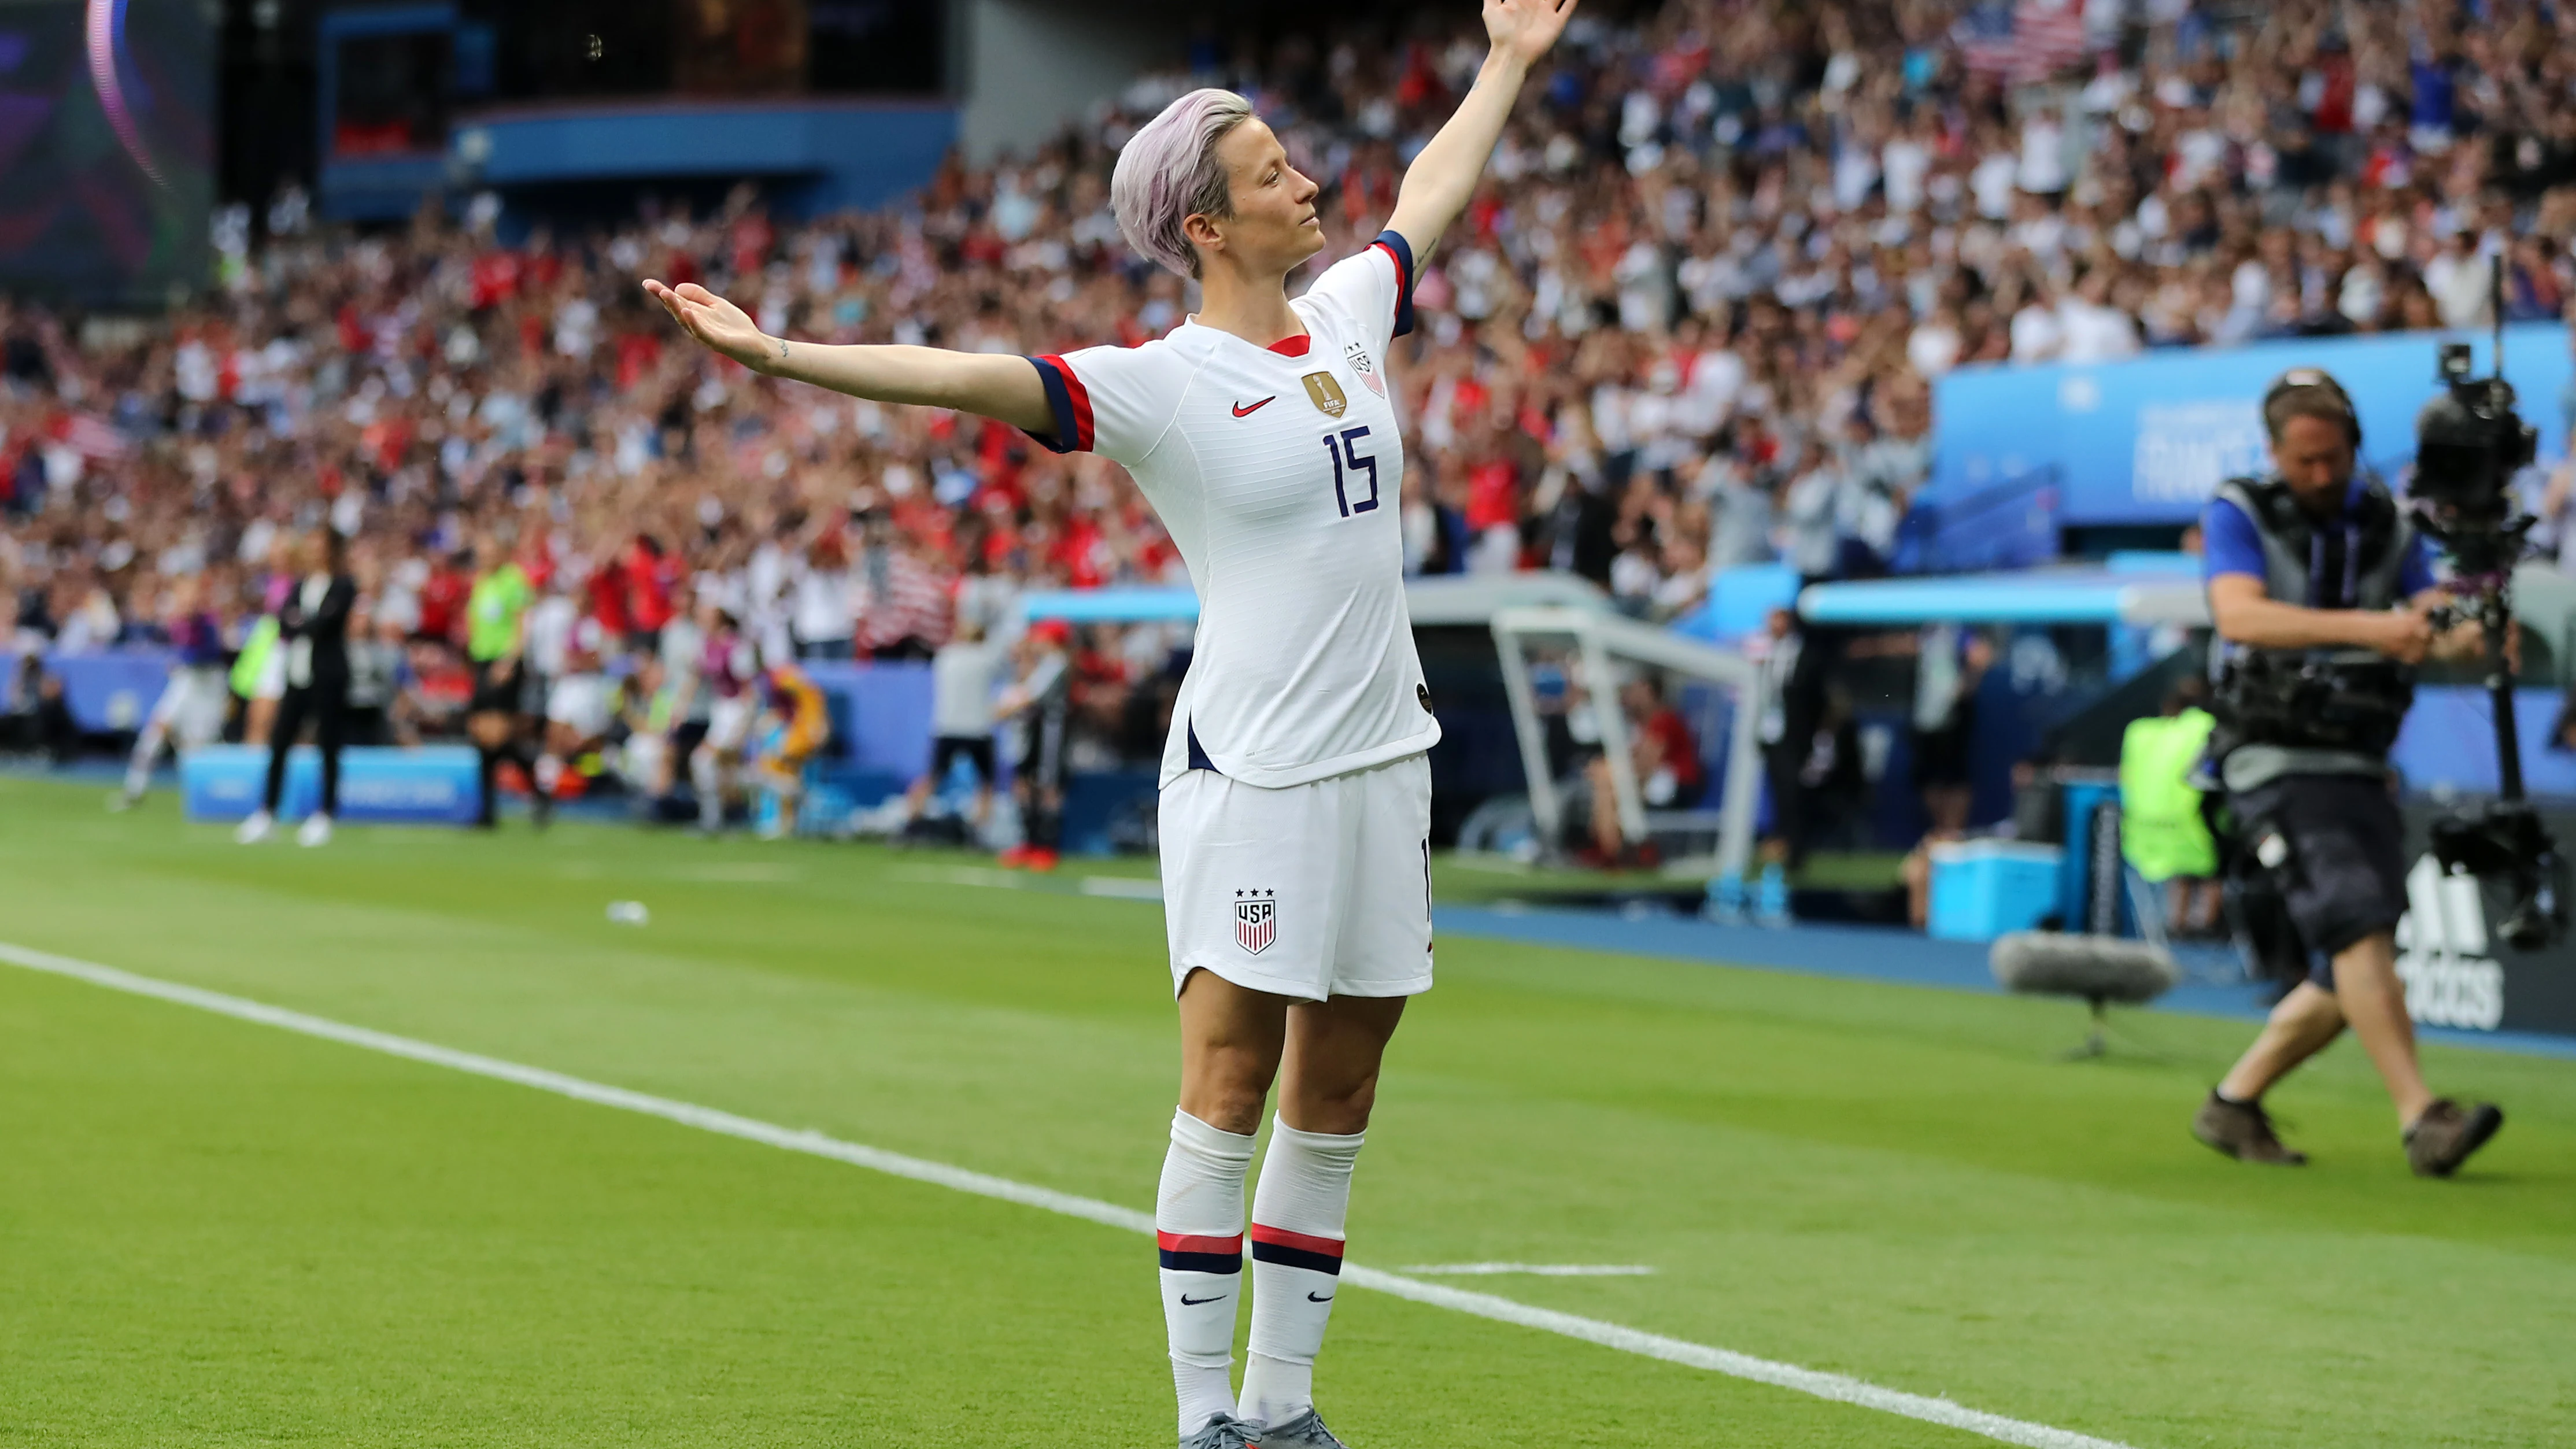
[[[2434,396],[2434,347],[2465,340],[2486,373],[2486,335],[2401,332],[2148,353],[2125,363],[1981,365],[1932,391],[1932,484],[1965,499],[2058,468],[2066,525],[2187,522],[2210,489],[2264,468],[2262,394],[2287,368],[2326,368],[2362,414],[2362,461],[2396,479],[2414,456],[2416,412]],[[2504,332],[2504,376],[2540,456],[2566,456],[2568,329]]]

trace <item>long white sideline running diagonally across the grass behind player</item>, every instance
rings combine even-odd
[[[325,1017],[307,1017],[304,1011],[268,1006],[265,1001],[250,1001],[247,996],[227,996],[222,991],[206,991],[201,986],[180,986],[175,981],[134,975],[129,970],[116,970],[113,965],[95,965],[88,960],[72,960],[67,955],[52,955],[8,942],[0,942],[0,963],[23,965],[28,970],[41,970],[49,975],[67,975],[72,981],[85,981],[90,986],[106,986],[108,991],[126,991],[131,996],[152,996],[157,1001],[173,1001],[178,1006],[196,1006],[198,1011],[214,1011],[216,1017],[234,1017],[240,1022],[258,1022],[263,1027],[278,1027],[307,1037],[322,1037],[327,1042],[343,1042],[350,1048],[366,1048],[374,1053],[397,1055],[428,1066],[443,1066],[471,1076],[487,1076],[495,1081],[533,1086],[536,1091],[551,1091],[556,1096],[590,1102],[595,1107],[618,1107],[623,1112],[641,1112],[644,1117],[662,1117],[665,1122],[680,1122],[683,1127],[721,1132],[726,1138],[742,1138],[747,1143],[762,1143],[791,1153],[832,1158],[840,1163],[863,1166],[889,1176],[904,1176],[912,1181],[927,1181],[956,1192],[971,1192],[976,1197],[994,1197],[1002,1202],[1018,1202],[1023,1207],[1041,1207],[1046,1212],[1061,1212],[1064,1217],[1082,1217],[1087,1223],[1100,1223],[1108,1228],[1126,1228],[1128,1233],[1149,1233],[1149,1235],[1154,1233],[1151,1215],[1136,1212],[1133,1207],[1118,1207],[1115,1202],[1100,1202],[1095,1197],[1074,1197],[1072,1192],[1054,1192],[1048,1186],[1010,1181],[1007,1176],[979,1174],[948,1163],[935,1163],[927,1158],[889,1153],[884,1148],[845,1143],[840,1138],[827,1138],[824,1132],[781,1127],[775,1122],[762,1122],[757,1117],[737,1117],[734,1112],[719,1112],[714,1107],[698,1107],[693,1102],[675,1102],[670,1096],[652,1096],[647,1091],[629,1091],[623,1086],[605,1086],[598,1081],[585,1081],[580,1076],[546,1071],[541,1066],[520,1066],[513,1060],[461,1053],[456,1048],[440,1048],[435,1042],[397,1037],[392,1032],[350,1027]],[[1618,1349],[1623,1354],[1638,1354],[1646,1359],[1662,1359],[1667,1364],[1685,1364],[1692,1369],[1710,1369],[1736,1380],[1752,1380],[1757,1385],[1772,1385],[1814,1398],[1826,1398],[1860,1408],[1875,1408],[1880,1413],[1919,1418],[1924,1423],[1940,1423],[1945,1428],[1963,1428],[1968,1434],[1981,1434],[2002,1444],[2022,1444],[2025,1449],[2130,1449],[2117,1439],[2094,1439],[2089,1434],[2076,1434],[2071,1428],[2050,1428],[2045,1423],[2004,1418],[2002,1413],[1984,1413],[1976,1408],[1950,1403],[1945,1398],[1888,1390],[1847,1374],[1826,1374],[1821,1369],[1803,1369],[1798,1364],[1757,1359],[1752,1354],[1736,1354],[1731,1349],[1690,1343],[1687,1338],[1667,1338],[1662,1333],[1646,1333],[1641,1328],[1625,1328],[1620,1323],[1605,1323],[1600,1318],[1556,1313],[1551,1307],[1530,1307],[1528,1302],[1512,1302],[1507,1297],[1494,1297],[1486,1292],[1443,1287],[1404,1274],[1391,1274],[1383,1269],[1363,1269],[1360,1264],[1347,1264],[1342,1269],[1342,1282],[1388,1292],[1394,1297],[1406,1297],[1412,1302],[1427,1302],[1432,1307],[1450,1307],[1455,1313],[1468,1313],[1473,1318],[1489,1318],[1494,1323],[1515,1323],[1520,1328],[1538,1328],[1543,1333],[1582,1338],[1584,1343],[1600,1343],[1602,1349]]]

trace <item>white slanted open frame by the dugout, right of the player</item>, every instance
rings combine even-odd
[[[1502,690],[1512,703],[1512,734],[1520,736],[1520,767],[1530,780],[1530,821],[1540,849],[1556,852],[1564,839],[1564,800],[1548,772],[1548,734],[1538,718],[1538,692],[1530,687],[1533,643],[1574,646],[1571,669],[1589,695],[1600,726],[1602,759],[1610,764],[1610,793],[1618,803],[1620,836],[1641,844],[1659,824],[1700,824],[1700,811],[1649,811],[1646,793],[1628,754],[1628,718],[1618,700],[1618,667],[1646,664],[1705,679],[1734,692],[1734,723],[1726,741],[1726,777],[1718,795],[1716,875],[1744,875],[1754,849],[1754,806],[1762,795],[1762,710],[1770,672],[1731,649],[1718,649],[1669,628],[1654,628],[1600,607],[1530,605],[1494,610],[1494,654],[1502,661]]]

